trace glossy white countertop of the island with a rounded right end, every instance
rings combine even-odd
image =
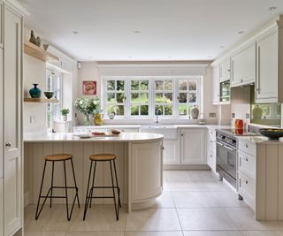
[[[73,133],[24,133],[24,142],[42,141],[154,141],[161,140],[164,135],[158,133],[120,133],[108,137],[94,136],[81,139]]]

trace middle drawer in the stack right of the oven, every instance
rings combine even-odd
[[[256,157],[238,151],[239,171],[246,173],[251,179],[256,179]]]

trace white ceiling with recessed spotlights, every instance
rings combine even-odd
[[[283,0],[20,2],[26,27],[80,61],[210,60],[283,13]]]

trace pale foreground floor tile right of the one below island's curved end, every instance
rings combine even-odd
[[[183,230],[237,230],[225,209],[177,209]]]

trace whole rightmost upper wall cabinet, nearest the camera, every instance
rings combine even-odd
[[[280,27],[256,39],[256,103],[283,102],[282,48]]]

